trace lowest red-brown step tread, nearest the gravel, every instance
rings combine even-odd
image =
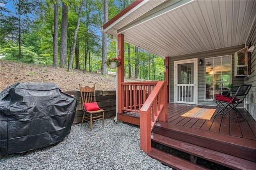
[[[194,164],[188,160],[184,160],[177,156],[168,154],[162,150],[152,148],[148,155],[159,162],[162,162],[165,165],[168,165],[176,170],[184,170],[184,169],[196,169],[196,170],[206,170],[207,168]]]

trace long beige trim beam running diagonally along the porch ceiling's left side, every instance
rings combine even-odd
[[[140,16],[136,20],[132,21],[130,24],[127,24],[126,26],[120,28],[117,31],[117,34],[121,34],[122,32],[129,30],[130,28],[133,28],[135,26],[143,24],[144,22],[152,20],[158,16],[164,15],[167,12],[175,10],[176,8],[180,8],[181,6],[191,3],[192,1],[194,1],[194,0],[168,0],[168,1],[160,4],[156,8],[153,8],[146,14]]]

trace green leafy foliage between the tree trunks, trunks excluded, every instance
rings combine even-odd
[[[102,1],[103,0],[87,0],[85,2],[82,8],[82,16],[77,36],[77,42],[79,42],[78,62],[80,68],[93,72],[96,72],[102,67],[102,33],[100,32],[103,23]],[[53,7],[56,1],[13,0],[12,2],[14,11],[9,11],[8,15],[3,13],[8,12],[8,10],[4,8],[4,6],[0,6],[0,55],[6,56],[3,58],[5,60],[19,60],[18,23],[19,16],[21,16],[21,61],[25,63],[52,65],[54,34]],[[77,24],[80,0],[58,0],[58,45],[60,45],[62,2],[68,6],[67,58],[69,58],[73,43],[74,29]],[[110,20],[130,3],[134,2],[134,0],[109,0],[108,2],[108,16]],[[115,58],[117,57],[116,43],[111,42],[109,38],[108,41],[108,58]],[[138,69],[139,78],[148,79],[148,68],[150,65],[150,79],[164,79],[163,58],[151,54],[149,61],[149,53],[147,51],[139,49],[138,53],[135,53],[134,46],[130,45],[130,62],[128,63],[127,45],[125,45],[125,47],[124,65],[126,75],[128,75],[128,65],[130,65],[132,77],[134,77],[135,69]],[[58,52],[60,52],[59,48]],[[138,66],[136,64],[138,64]]]

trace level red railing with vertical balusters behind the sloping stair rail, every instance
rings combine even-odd
[[[121,83],[122,111],[139,113],[142,105],[152,93],[157,81]]]

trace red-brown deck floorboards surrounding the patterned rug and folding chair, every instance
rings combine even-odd
[[[230,119],[228,115],[218,115],[216,117],[212,117],[210,121],[203,119],[193,119],[189,117],[181,117],[181,115],[193,109],[194,107],[202,107],[208,109],[215,108],[215,106],[168,103],[168,123],[171,125],[190,127],[193,129],[199,129],[204,131],[206,130],[209,132],[256,140],[255,121],[245,109],[238,109],[240,113],[242,113],[242,116],[245,118],[245,120],[239,118],[238,121],[237,119],[235,119],[236,122]],[[216,108],[215,113],[217,112],[218,108]],[[236,113],[234,111],[231,111],[230,114],[232,115],[232,117],[236,117]]]

